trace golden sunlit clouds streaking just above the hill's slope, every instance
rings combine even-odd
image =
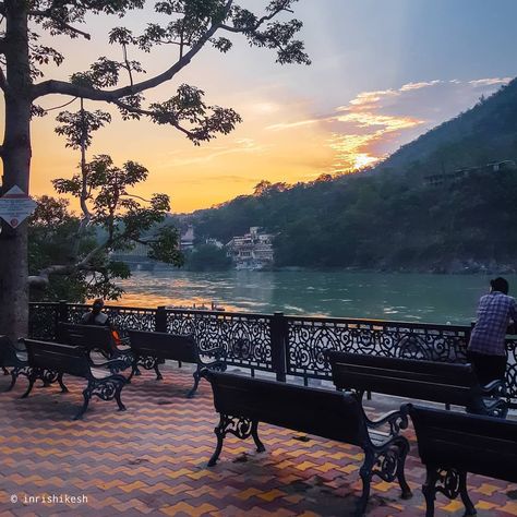
[[[346,172],[382,160],[400,145],[471,107],[480,94],[490,95],[509,81],[432,80],[360,92],[329,113],[279,122],[267,130],[316,127],[328,132],[326,145],[333,151],[334,160],[327,171]]]

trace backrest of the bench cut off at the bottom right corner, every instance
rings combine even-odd
[[[409,408],[423,464],[517,482],[517,422]]]

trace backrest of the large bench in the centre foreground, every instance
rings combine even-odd
[[[363,446],[369,441],[359,400],[339,392],[207,372],[216,411]]]

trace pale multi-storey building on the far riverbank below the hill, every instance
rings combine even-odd
[[[233,237],[226,249],[238,269],[261,269],[274,261],[273,236],[261,233],[257,226],[244,236]]]

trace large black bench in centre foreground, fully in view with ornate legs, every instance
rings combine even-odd
[[[386,437],[384,433],[370,433],[357,397],[206,370],[203,376],[212,383],[214,406],[220,417],[215,428],[217,446],[208,466],[216,464],[228,433],[242,440],[252,436],[256,450],[265,450],[257,431],[258,422],[265,422],[361,447],[364,461],[360,469],[363,484],[358,504],[360,515],[365,510],[373,476],[388,482],[397,479],[402,497],[411,496],[404,477],[408,441],[397,434]],[[386,422],[398,430],[408,421],[399,411],[393,411],[375,424]]]

